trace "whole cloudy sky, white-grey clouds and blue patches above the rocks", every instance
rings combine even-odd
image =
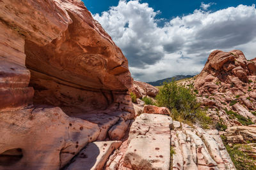
[[[198,74],[213,50],[256,57],[256,1],[84,0],[135,80]]]

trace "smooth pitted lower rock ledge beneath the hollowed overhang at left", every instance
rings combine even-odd
[[[0,164],[6,170],[60,169],[100,133],[97,124],[44,107],[2,112],[0,127],[0,153],[13,148],[22,152],[19,161]]]

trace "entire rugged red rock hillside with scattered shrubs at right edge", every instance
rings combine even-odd
[[[225,145],[233,154],[242,151],[248,156],[233,159],[243,162],[243,167],[256,166],[255,147],[256,123],[256,59],[246,60],[243,52],[216,50],[209,55],[200,74],[181,82],[194,87],[202,107],[208,108],[212,118],[211,128],[218,129]],[[239,158],[240,157],[240,158]],[[252,162],[248,166],[246,162]]]

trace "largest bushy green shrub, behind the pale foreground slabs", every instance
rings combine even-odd
[[[169,108],[175,120],[184,120],[187,124],[198,122],[207,128],[211,118],[200,108],[200,103],[196,102],[196,96],[192,91],[190,88],[177,85],[175,81],[164,82],[156,96],[157,105]]]

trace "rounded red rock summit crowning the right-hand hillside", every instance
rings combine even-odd
[[[248,90],[249,76],[256,76],[253,66],[254,60],[247,61],[243,52],[233,50],[222,52],[216,50],[209,55],[202,72],[196,77],[195,88],[199,94],[212,94],[223,89]],[[217,84],[216,84],[217,83]]]

